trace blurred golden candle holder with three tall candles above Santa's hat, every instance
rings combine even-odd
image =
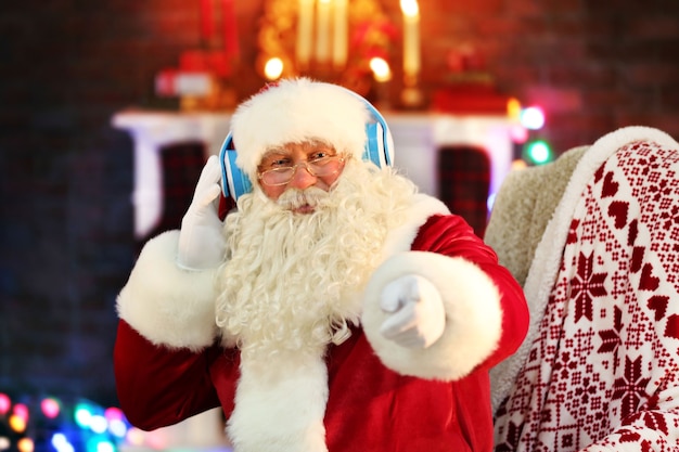
[[[283,77],[344,82],[362,73],[371,56],[388,55],[397,34],[380,0],[265,0],[256,61],[264,74],[272,57]]]

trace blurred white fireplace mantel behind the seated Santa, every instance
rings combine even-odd
[[[474,145],[490,156],[492,197],[511,169],[512,129],[507,116],[384,113],[395,144],[395,166],[424,193],[437,196],[437,152],[444,146]],[[126,130],[134,146],[134,235],[143,238],[163,208],[161,150],[169,144],[200,141],[208,155],[219,154],[229,132],[230,113],[183,113],[128,109],[112,125]]]

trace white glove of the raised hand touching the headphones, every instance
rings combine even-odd
[[[187,270],[219,266],[223,260],[226,238],[219,220],[219,158],[210,156],[201,171],[193,201],[181,220],[177,264]]]

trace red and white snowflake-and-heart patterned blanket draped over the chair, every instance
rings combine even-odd
[[[679,451],[679,150],[628,143],[575,208],[496,451]]]

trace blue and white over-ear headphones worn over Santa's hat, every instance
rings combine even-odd
[[[337,88],[359,98],[372,116],[372,121],[366,124],[368,140],[363,148],[362,159],[366,162],[370,160],[380,168],[392,166],[394,164],[392,135],[384,117],[377,112],[377,108],[359,94],[340,86]],[[221,191],[225,197],[231,196],[233,201],[238,201],[239,197],[253,190],[253,183],[247,175],[235,165],[235,157],[236,151],[233,147],[233,138],[231,132],[229,132],[221,145],[219,162],[221,164]]]

